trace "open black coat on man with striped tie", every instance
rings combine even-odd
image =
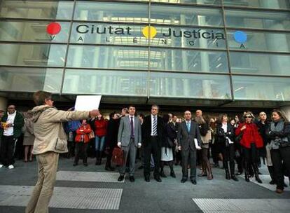
[[[142,130],[142,141],[144,146],[149,144],[151,140],[151,115],[146,116],[144,118],[143,124],[141,126]],[[163,143],[163,132],[164,132],[164,124],[163,119],[160,116],[157,116],[157,140],[158,146],[162,146]]]

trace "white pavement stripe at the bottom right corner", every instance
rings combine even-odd
[[[204,213],[289,213],[290,199],[211,199],[193,198]]]

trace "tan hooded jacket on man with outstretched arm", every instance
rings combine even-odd
[[[34,155],[48,151],[66,153],[67,135],[62,122],[89,118],[89,111],[61,111],[48,105],[34,107],[29,113],[32,114],[34,122]],[[57,141],[65,143],[64,149],[57,149]]]

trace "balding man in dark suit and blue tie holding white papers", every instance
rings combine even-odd
[[[182,158],[182,179],[184,183],[188,179],[188,159],[191,166],[191,183],[196,185],[196,150],[201,149],[201,137],[198,124],[191,120],[191,111],[184,112],[183,121],[177,132],[178,148],[181,150]]]

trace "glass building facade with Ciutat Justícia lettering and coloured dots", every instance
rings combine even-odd
[[[290,2],[3,0],[0,91],[36,90],[116,103],[289,104]]]

